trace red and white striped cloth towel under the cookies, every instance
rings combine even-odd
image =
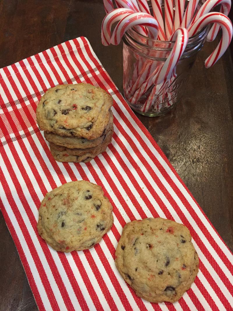
[[[233,256],[80,37],[0,69],[1,210],[40,310],[232,310]],[[91,162],[58,163],[36,124],[44,92],[57,84],[87,82],[109,92],[114,134],[107,151]],[[38,236],[44,195],[71,180],[102,186],[113,205],[114,225],[100,244],[68,254]],[[114,263],[122,227],[135,219],[164,217],[191,231],[200,271],[174,304],[140,299]]]

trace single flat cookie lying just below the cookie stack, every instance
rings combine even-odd
[[[112,205],[100,186],[72,181],[47,193],[37,228],[55,250],[71,252],[97,244],[113,223]]]

